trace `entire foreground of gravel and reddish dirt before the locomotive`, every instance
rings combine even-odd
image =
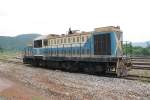
[[[150,82],[0,60],[0,100],[150,100]]]

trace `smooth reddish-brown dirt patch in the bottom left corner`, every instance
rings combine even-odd
[[[0,100],[48,100],[31,88],[0,75]]]

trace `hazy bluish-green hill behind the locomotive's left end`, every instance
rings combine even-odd
[[[28,43],[40,34],[21,34],[15,37],[0,36],[0,48],[6,50],[23,50]]]

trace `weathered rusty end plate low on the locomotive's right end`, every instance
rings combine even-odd
[[[122,60],[117,61],[117,68],[116,68],[116,74],[117,77],[124,77],[127,76],[127,66]]]

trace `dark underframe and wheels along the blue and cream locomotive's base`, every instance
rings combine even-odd
[[[25,56],[23,62],[36,67],[60,69],[72,72],[79,71],[92,74],[115,72],[118,77],[126,76],[127,70],[131,65],[131,62],[127,57],[81,58]]]

